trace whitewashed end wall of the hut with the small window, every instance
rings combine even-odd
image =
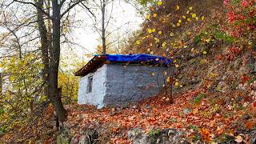
[[[88,77],[93,76],[92,91],[88,93]],[[79,80],[78,104],[92,104],[102,108],[103,98],[106,94],[106,65],[98,68],[94,73],[87,74]]]

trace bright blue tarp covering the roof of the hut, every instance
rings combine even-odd
[[[172,63],[170,58],[150,54],[106,54],[106,60],[110,62],[153,62],[165,66]]]

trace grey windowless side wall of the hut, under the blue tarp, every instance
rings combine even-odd
[[[104,104],[122,105],[158,94],[166,80],[167,76],[163,76],[166,70],[170,72],[167,67],[107,65]]]

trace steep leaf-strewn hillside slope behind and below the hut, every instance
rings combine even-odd
[[[159,94],[138,104],[102,110],[69,105],[62,133],[54,127],[49,107],[45,123],[38,123],[41,131],[6,134],[3,140],[255,143],[255,10],[254,0],[157,2],[123,53],[173,58],[173,103]]]

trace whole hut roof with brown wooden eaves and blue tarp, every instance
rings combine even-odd
[[[85,76],[96,71],[104,64],[125,63],[125,64],[141,64],[147,66],[170,66],[172,60],[150,54],[106,54],[94,55],[94,58],[75,73],[75,76]]]

